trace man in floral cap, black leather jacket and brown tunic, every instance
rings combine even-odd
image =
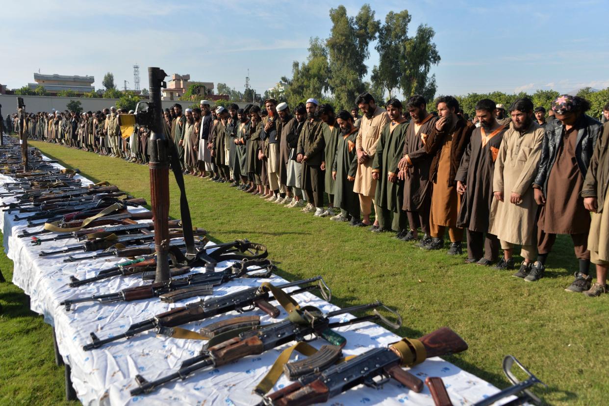
[[[543,277],[556,234],[569,234],[579,259],[579,272],[566,291],[583,292],[590,289],[592,277],[588,275],[590,213],[580,192],[602,125],[585,114],[590,110],[590,102],[582,97],[563,94],[552,102],[552,110],[556,120],[546,125],[533,184],[535,201],[542,206],[537,223],[538,256],[524,280],[534,282]]]

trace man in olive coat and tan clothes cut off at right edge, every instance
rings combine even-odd
[[[590,261],[596,265],[596,282],[583,292],[586,296],[607,293],[609,268],[609,122],[596,142],[588,173],[582,187],[583,205],[591,212],[588,235]]]

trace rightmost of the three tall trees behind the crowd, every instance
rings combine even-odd
[[[431,65],[440,63],[440,54],[432,42],[434,29],[421,24],[415,37],[409,38],[401,45],[400,55],[400,89],[404,97],[421,94],[426,100],[435,96],[435,75],[429,76]]]

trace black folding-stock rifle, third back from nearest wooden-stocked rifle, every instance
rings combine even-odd
[[[286,289],[301,284],[310,284],[311,282],[315,281],[318,282],[317,285],[301,287],[290,292],[290,295],[297,295],[298,293],[320,289],[322,295],[328,297],[329,299],[330,293],[328,286],[325,284],[325,282],[323,282],[321,276],[315,276],[315,278],[303,279],[301,281],[289,282],[287,284],[278,285],[275,288]],[[258,307],[258,309],[267,313],[270,315],[270,317],[275,318],[280,314],[280,310],[269,303],[269,301],[273,299],[275,299],[274,296],[269,295],[269,288],[267,288],[265,284],[262,284],[259,287],[248,288],[241,290],[240,292],[220,296],[219,298],[211,298],[206,301],[201,300],[199,302],[189,303],[186,306],[176,307],[168,312],[160,313],[148,320],[134,323],[124,333],[114,335],[113,337],[103,338],[100,340],[97,338],[95,333],[91,332],[91,339],[93,341],[90,344],[83,346],[83,350],[89,351],[94,348],[99,348],[100,346],[111,343],[112,341],[121,340],[121,338],[130,338],[133,337],[133,335],[156,329],[157,327],[177,327],[181,324],[191,323],[191,321],[204,320],[209,317],[232,312],[233,310],[236,310],[237,312],[247,312]]]

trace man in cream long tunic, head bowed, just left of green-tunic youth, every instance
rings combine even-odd
[[[375,99],[370,93],[362,93],[357,96],[356,104],[364,113],[364,117],[362,117],[356,139],[357,173],[353,191],[359,194],[359,205],[364,217],[359,226],[369,226],[372,198],[376,190],[376,180],[372,177],[372,161],[376,152],[376,143],[381,136],[382,129],[389,122],[389,115],[387,115],[387,111],[376,105]],[[375,210],[375,212],[378,217],[378,211]],[[370,230],[375,228],[378,228],[378,218]]]

